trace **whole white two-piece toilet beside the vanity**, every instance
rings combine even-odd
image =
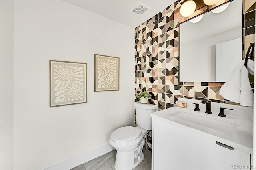
[[[147,132],[152,130],[150,113],[158,111],[158,105],[135,102],[137,127],[125,126],[116,129],[110,135],[109,143],[117,150],[116,170],[132,170],[143,159],[142,147]]]

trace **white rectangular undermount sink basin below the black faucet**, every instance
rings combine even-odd
[[[195,123],[204,127],[212,128],[222,132],[233,132],[238,127],[238,122],[232,121],[222,117],[214,117],[213,115],[206,115],[203,113],[194,113],[193,111],[178,111],[176,113],[168,114],[173,117],[178,123],[183,124]],[[182,121],[179,121],[182,120]]]

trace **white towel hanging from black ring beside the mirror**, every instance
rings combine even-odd
[[[220,88],[220,95],[242,106],[253,106],[253,93],[248,73],[254,75],[254,61],[248,59],[247,68],[244,62],[244,60],[240,61],[233,69],[229,80]]]

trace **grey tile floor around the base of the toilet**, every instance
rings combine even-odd
[[[151,170],[151,152],[143,147],[144,160],[134,170]],[[114,170],[116,150],[81,164],[71,170]]]

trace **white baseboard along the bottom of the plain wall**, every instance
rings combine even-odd
[[[111,152],[112,150],[114,150],[114,148],[110,144],[107,144],[98,149],[92,150],[70,160],[66,160],[65,162],[62,162],[60,164],[54,165],[50,168],[46,168],[45,170],[70,170],[78,165],[81,165],[85,162],[98,158],[99,156],[102,156],[108,152]]]

